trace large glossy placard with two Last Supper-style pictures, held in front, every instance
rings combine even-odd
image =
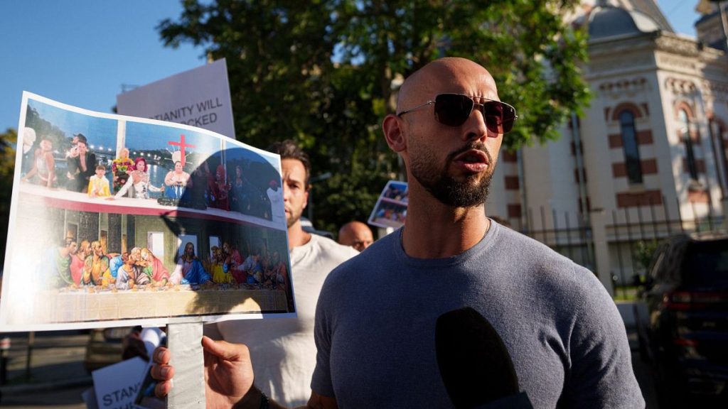
[[[295,316],[280,156],[29,92],[18,129],[0,331]]]

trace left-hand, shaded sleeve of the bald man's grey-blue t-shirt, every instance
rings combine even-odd
[[[324,284],[316,305],[314,341],[316,343],[316,368],[311,378],[311,390],[321,396],[334,397],[331,382],[331,309]]]

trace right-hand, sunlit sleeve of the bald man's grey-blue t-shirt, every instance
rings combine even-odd
[[[625,325],[590,271],[569,339],[571,370],[561,401],[569,408],[644,408]]]

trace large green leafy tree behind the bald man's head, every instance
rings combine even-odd
[[[443,56],[486,66],[518,110],[506,148],[558,137],[588,99],[586,35],[563,22],[576,0],[184,0],[159,24],[170,47],[226,58],[237,139],[309,151],[316,225],[363,220],[400,166],[381,136],[403,78]]]

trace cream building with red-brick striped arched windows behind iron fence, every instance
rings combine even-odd
[[[653,0],[586,4],[574,24],[590,34],[593,100],[558,140],[501,156],[488,215],[590,267],[609,290],[644,272],[649,243],[725,227],[728,56],[720,13],[703,12],[695,39]]]

